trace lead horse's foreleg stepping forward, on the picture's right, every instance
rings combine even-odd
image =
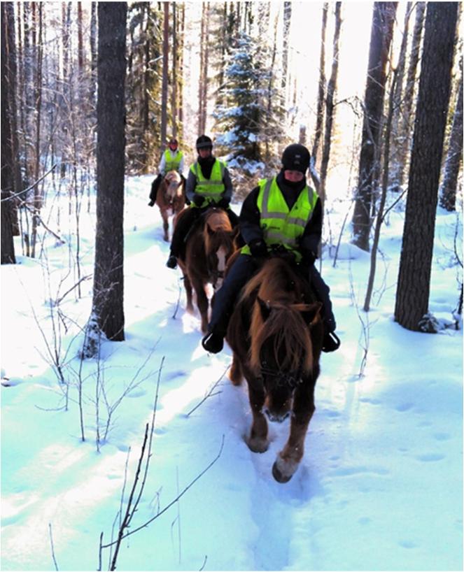
[[[309,392],[307,385],[304,387],[304,382],[295,389],[290,435],[285,447],[279,452],[272,466],[272,476],[278,482],[288,482],[295,474],[303,457],[304,438],[311,417],[316,410],[314,406],[314,383],[312,385],[313,387]]]

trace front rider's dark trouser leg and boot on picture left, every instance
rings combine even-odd
[[[227,274],[223,285],[214,294],[208,333],[202,339],[202,346],[207,352],[216,354],[223,349],[225,334],[237,296],[255,271],[255,259],[248,255],[240,255]]]

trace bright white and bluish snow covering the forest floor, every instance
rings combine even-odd
[[[41,330],[50,343],[60,322],[46,301],[77,281],[67,271],[68,246],[46,238],[47,265],[45,258],[18,256],[19,264],[1,266],[1,569],[55,569],[50,534],[59,570],[98,569],[99,536],[111,540],[122,496],[127,502],[158,379],[153,456],[131,529],[181,496],[122,543],[118,570],[462,569],[462,322],[459,331],[419,334],[393,321],[400,209],[382,231],[369,314],[360,309],[369,255],[349,245],[348,229],[335,267],[334,249],[330,257],[325,249],[322,271],[342,346],[322,357],[302,464],[281,485],[271,468],[288,422],[269,424],[267,452],[248,450],[246,384],[233,387],[223,375],[231,361],[227,346],[216,356],[202,350],[199,316],[185,313],[180,273],[164,266],[160,215],[146,206],[150,182],[127,179],[126,340],[104,342],[100,361],[82,364],[84,442],[78,325],[90,315],[92,280],[82,283],[81,299],[73,291],[59,305],[69,328],[61,350],[64,356],[69,348],[66,411]],[[334,203],[334,236],[343,215]],[[430,292],[430,310],[449,324],[459,294],[455,222],[440,210]],[[92,273],[93,228],[94,219],[83,215],[83,276]],[[108,403],[122,396],[99,451],[97,366]],[[102,569],[108,555],[104,550]]]

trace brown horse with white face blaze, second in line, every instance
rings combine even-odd
[[[181,217],[183,213],[179,213]],[[178,220],[178,219],[176,219]],[[202,332],[208,327],[209,299],[205,287],[212,284],[219,289],[224,280],[225,264],[235,249],[237,230],[232,229],[225,210],[210,208],[199,224],[190,231],[185,253],[178,257],[187,294],[187,310],[193,311],[192,288],[197,295],[197,306],[202,316]]]

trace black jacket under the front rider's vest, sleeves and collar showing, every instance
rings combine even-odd
[[[283,179],[283,173],[279,173],[277,176],[277,185],[283,194],[283,198],[286,200],[288,208],[291,209],[295,204],[300,192],[304,188],[306,180],[302,181],[301,189],[293,189],[285,184]],[[240,213],[240,233],[244,238],[244,241],[249,244],[255,239],[263,240],[263,234],[260,227],[260,210],[258,209],[258,194],[260,192],[260,187],[255,187],[250,194],[244,200],[241,206]],[[317,254],[318,245],[321,241],[322,234],[322,209],[321,209],[321,199],[318,199],[316,206],[314,207],[314,213],[309,220],[308,224],[304,228],[303,236],[300,241],[300,252],[302,255],[305,253]]]

